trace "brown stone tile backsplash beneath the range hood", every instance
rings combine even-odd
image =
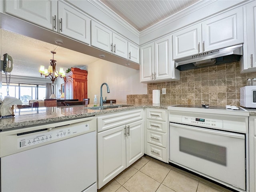
[[[161,90],[161,104],[240,106],[240,87],[256,72],[240,74],[240,62],[180,72],[180,80],[148,84],[148,94],[127,95],[127,103],[152,103],[152,90]],[[166,94],[162,94],[166,88]]]

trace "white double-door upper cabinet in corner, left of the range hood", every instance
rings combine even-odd
[[[171,36],[166,36],[140,48],[140,82],[179,78],[171,57],[171,47]]]

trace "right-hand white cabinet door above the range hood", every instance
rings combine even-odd
[[[202,22],[203,52],[243,43],[243,24],[242,7]]]

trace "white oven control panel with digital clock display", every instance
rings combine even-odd
[[[223,128],[223,120],[182,116],[182,123],[208,128]]]

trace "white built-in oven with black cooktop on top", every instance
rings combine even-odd
[[[168,107],[170,162],[245,192],[249,112],[226,107]]]

